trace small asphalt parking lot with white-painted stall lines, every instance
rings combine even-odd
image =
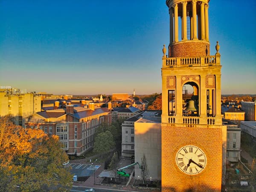
[[[77,177],[90,176],[101,165],[81,164],[81,163],[69,163],[65,167],[71,167],[71,173],[77,175]]]

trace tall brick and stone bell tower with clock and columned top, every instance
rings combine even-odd
[[[221,191],[226,127],[218,41],[215,55],[210,55],[208,3],[166,0],[170,43],[168,53],[163,47],[161,116],[166,192]]]

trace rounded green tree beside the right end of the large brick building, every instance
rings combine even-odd
[[[113,135],[110,131],[105,131],[103,133],[98,134],[95,137],[93,152],[96,154],[102,154],[114,148],[115,142],[113,139]]]

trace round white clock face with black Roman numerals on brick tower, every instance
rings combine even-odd
[[[180,171],[188,175],[196,175],[202,172],[207,164],[206,154],[195,145],[186,145],[180,148],[175,161]]]

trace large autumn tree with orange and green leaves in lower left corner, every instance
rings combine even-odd
[[[69,189],[72,175],[62,165],[67,160],[58,136],[0,117],[0,192]]]

